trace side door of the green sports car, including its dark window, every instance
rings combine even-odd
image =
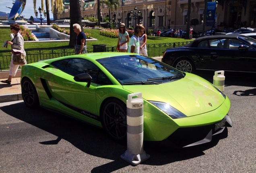
[[[62,72],[56,73],[50,84],[51,94],[59,101],[60,107],[66,111],[74,111],[84,115],[97,114],[96,80],[99,68],[92,62],[82,58],[70,58],[52,63]],[[76,82],[76,74],[88,73],[92,82]],[[71,109],[71,110],[70,110]]]

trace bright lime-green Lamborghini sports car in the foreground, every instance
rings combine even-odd
[[[145,141],[189,147],[232,127],[230,101],[213,84],[139,54],[97,52],[27,64],[21,87],[27,107],[103,127],[117,141],[126,139],[128,95],[138,92]]]

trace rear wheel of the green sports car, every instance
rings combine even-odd
[[[29,108],[39,106],[37,91],[33,82],[29,78],[25,78],[21,84],[21,94],[25,105]]]

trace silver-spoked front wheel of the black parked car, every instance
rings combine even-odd
[[[183,72],[189,72],[189,73],[195,72],[195,66],[193,62],[187,58],[181,58],[177,60],[174,63],[173,67]]]

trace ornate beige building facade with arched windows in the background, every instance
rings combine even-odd
[[[215,1],[215,0],[213,0]],[[191,0],[190,20],[197,18],[199,24],[193,26],[195,31],[202,31],[204,26],[205,3],[211,0]],[[97,0],[91,2],[80,1],[81,16],[97,16]],[[110,12],[111,22],[117,25],[125,23],[126,26],[134,27],[142,24],[148,29],[186,29],[188,0],[120,0],[117,10]],[[234,30],[241,27],[256,27],[256,1],[255,0],[218,0],[215,12],[215,28]],[[54,10],[54,20],[69,18],[69,0],[63,0],[64,10],[62,14]],[[101,18],[109,17],[109,8],[100,6]],[[114,19],[112,21],[112,19]],[[205,30],[211,26],[205,26]]]

